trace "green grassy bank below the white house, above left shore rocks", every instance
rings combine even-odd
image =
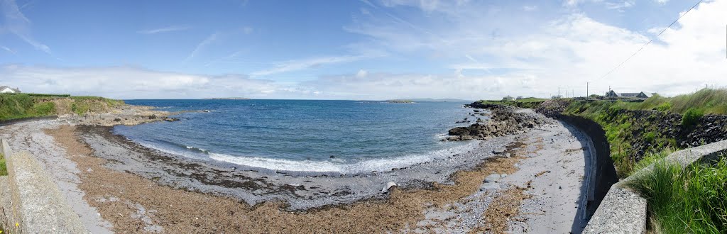
[[[84,114],[106,111],[124,101],[103,97],[68,97],[66,94],[0,94],[0,121],[17,118]]]

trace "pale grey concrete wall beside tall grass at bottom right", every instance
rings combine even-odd
[[[726,152],[727,140],[723,140],[677,151],[664,160],[675,162],[685,168],[692,164],[715,161]],[[630,190],[627,184],[642,174],[651,173],[653,169],[654,165],[647,166],[613,185],[583,233],[646,233],[646,199]]]

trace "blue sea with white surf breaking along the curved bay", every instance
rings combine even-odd
[[[442,142],[468,116],[463,102],[126,100],[158,110],[209,110],[181,121],[116,126],[148,148],[201,160],[293,172],[388,171],[444,158],[473,142]],[[481,117],[481,116],[480,116]],[[482,117],[481,117],[482,118]]]

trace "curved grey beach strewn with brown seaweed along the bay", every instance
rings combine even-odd
[[[12,148],[41,161],[92,233],[579,233],[585,226],[579,204],[588,140],[554,120],[467,141],[465,153],[424,164],[326,174],[145,148],[113,134],[108,125],[119,118],[109,115],[107,126],[59,118],[0,127]],[[397,186],[387,190],[391,182]]]

